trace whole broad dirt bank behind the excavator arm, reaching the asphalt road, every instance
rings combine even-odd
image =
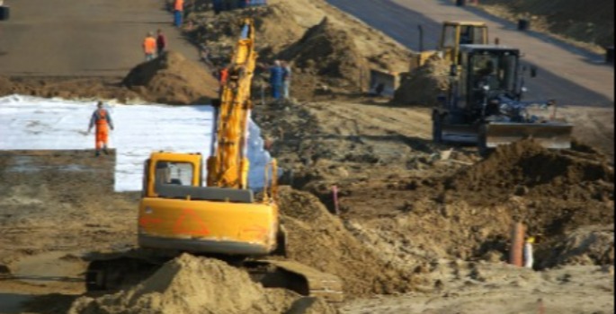
[[[365,90],[369,69],[402,72],[410,52],[326,2],[272,1],[268,6],[214,15],[194,12],[189,37],[209,51],[214,65],[226,65],[239,36],[239,22],[254,19],[259,54],[255,78],[267,82],[273,60],[290,63],[291,95],[311,99],[325,93],[349,95]],[[284,25],[284,27],[281,27]]]

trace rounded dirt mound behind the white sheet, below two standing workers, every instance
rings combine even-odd
[[[218,90],[218,83],[205,67],[174,51],[137,65],[122,84],[138,91],[145,100],[166,104],[209,103]]]

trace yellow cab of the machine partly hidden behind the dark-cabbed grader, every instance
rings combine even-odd
[[[460,45],[487,45],[484,22],[443,22],[439,50],[455,65],[460,63]]]

